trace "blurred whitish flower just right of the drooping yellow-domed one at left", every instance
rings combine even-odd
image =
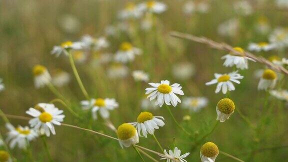
[[[52,71],[52,83],[55,86],[61,87],[70,82],[70,74],[61,69],[55,69]]]

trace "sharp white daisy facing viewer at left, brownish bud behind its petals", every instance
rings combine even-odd
[[[59,110],[52,103],[38,103],[34,108],[30,107],[26,113],[34,117],[29,120],[30,126],[46,136],[50,136],[50,131],[56,134],[54,124],[61,125],[65,117],[62,114],[63,110]]]

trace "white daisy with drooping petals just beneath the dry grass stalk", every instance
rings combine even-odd
[[[235,55],[231,51],[230,53],[221,57],[221,59],[225,59],[223,65],[226,67],[232,67],[233,65],[236,65],[237,68],[247,69],[248,68],[248,60],[252,60],[252,61],[254,61],[254,60],[249,58],[249,57],[246,57],[244,50],[241,47],[234,47],[233,49],[242,55],[241,56]]]

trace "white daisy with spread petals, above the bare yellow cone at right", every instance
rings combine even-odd
[[[230,72],[228,74],[214,73],[215,78],[209,82],[206,82],[206,85],[211,85],[217,83],[215,93],[218,93],[222,89],[222,93],[226,94],[227,90],[235,90],[235,87],[232,82],[237,84],[240,83],[238,79],[242,79],[244,76],[241,76],[238,71]]]

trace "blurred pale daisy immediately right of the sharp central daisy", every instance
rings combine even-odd
[[[208,99],[206,97],[184,97],[182,107],[197,112],[205,107],[207,103]]]

